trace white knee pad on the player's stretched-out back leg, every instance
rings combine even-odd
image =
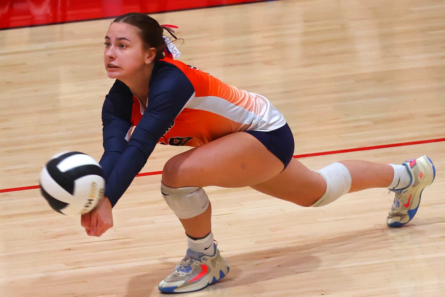
[[[314,170],[326,180],[326,191],[313,207],[328,205],[351,190],[351,174],[342,163],[332,163],[320,170]]]

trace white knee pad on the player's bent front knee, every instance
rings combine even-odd
[[[190,219],[205,212],[210,201],[202,187],[171,188],[161,182],[161,193],[179,219]]]

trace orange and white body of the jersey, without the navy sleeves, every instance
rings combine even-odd
[[[283,115],[259,94],[227,85],[181,61],[164,58],[160,63],[174,65],[184,73],[193,86],[193,93],[189,90],[190,98],[158,143],[200,146],[234,132],[271,131],[286,123]],[[134,126],[138,125],[143,113],[144,107],[133,96],[131,122]]]

